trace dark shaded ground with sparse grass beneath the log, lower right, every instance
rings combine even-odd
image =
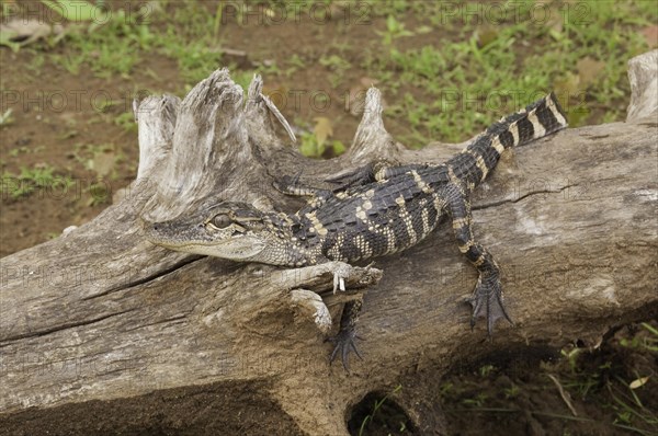
[[[504,425],[515,415],[522,418],[530,413],[560,421],[565,429],[577,433],[580,427],[569,423],[650,435],[658,427],[653,394],[655,365],[649,364],[657,353],[656,323],[631,324],[613,331],[597,349],[565,348],[561,359],[537,363],[538,367],[524,368],[518,375],[490,364],[451,375],[442,382],[439,394],[449,422],[467,422],[469,418],[464,416],[477,413]],[[575,406],[577,415],[570,413],[566,402]],[[549,403],[556,408],[552,412],[546,409]],[[544,404],[544,410],[533,410],[533,404]]]

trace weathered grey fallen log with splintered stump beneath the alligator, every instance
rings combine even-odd
[[[366,341],[350,374],[329,365],[331,345],[309,309],[318,292],[334,320],[340,313],[326,265],[177,253],[146,241],[141,219],[219,199],[294,211],[299,199],[272,187],[282,174],[321,181],[375,158],[441,162],[461,146],[405,149],[384,129],[375,89],[349,152],[329,161],[294,150],[258,77],[247,96],[218,70],[182,101],[146,99],[136,106],[138,177],[123,198],[0,261],[0,433],[341,435],[355,403],[400,377],[441,377],[501,351],[593,347],[609,329],[655,317],[658,124],[656,97],[643,100],[639,84],[655,83],[656,62],[643,65],[631,72],[649,77],[634,82],[642,117],[519,148],[474,198],[476,236],[502,266],[515,326],[499,322],[492,342],[484,322],[469,329],[463,298],[476,272],[443,227],[355,269],[348,288],[367,290]],[[411,388],[395,400],[420,434],[440,431],[428,395]]]

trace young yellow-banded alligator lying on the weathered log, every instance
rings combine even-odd
[[[502,303],[500,269],[473,238],[469,196],[496,167],[502,151],[567,126],[554,94],[491,125],[442,164],[390,167],[375,162],[338,177],[333,191],[304,187],[288,177],[277,187],[311,196],[294,215],[262,211],[238,202],[220,202],[166,222],[151,223],[147,238],[171,250],[239,262],[306,266],[328,261],[356,262],[406,250],[447,216],[457,246],[479,272],[468,302],[470,325],[487,319],[489,335],[498,319],[512,322]],[[340,274],[336,284],[344,290]],[[348,368],[358,355],[355,322],[361,301],[345,303],[330,360],[338,353]]]

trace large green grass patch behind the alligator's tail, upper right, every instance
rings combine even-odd
[[[552,5],[546,10],[555,20],[540,25],[511,19],[495,24],[486,19],[463,22],[458,13],[446,19],[446,8],[463,11],[466,7],[444,3],[432,8],[426,2],[426,18],[416,28],[442,26],[455,37],[405,48],[401,36],[413,33],[388,15],[386,30],[379,32],[387,49],[367,59],[364,67],[374,67],[372,73],[384,90],[399,88],[390,81],[412,84],[389,96],[394,103],[388,110],[394,118],[406,114],[400,123],[407,124],[405,138],[411,145],[420,146],[431,138],[464,140],[499,117],[501,110],[512,112],[551,90],[558,92],[568,111],[572,110],[572,126],[589,123],[601,108],[606,119],[620,119],[629,93],[626,60],[649,49],[638,30],[656,22],[656,10],[646,3],[579,2],[581,9],[570,11]],[[372,5],[382,9],[381,13],[405,9],[401,2]],[[484,18],[486,8],[479,9]],[[525,16],[536,7],[526,1],[506,3],[506,8],[501,15]],[[588,81],[579,80],[577,70],[586,58],[602,67]],[[510,102],[501,108],[490,101],[492,94]],[[621,101],[624,104],[615,104]]]

